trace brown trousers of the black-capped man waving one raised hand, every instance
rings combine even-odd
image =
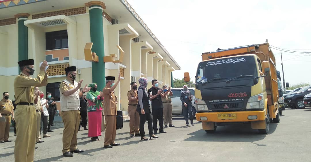
[[[116,139],[117,130],[117,116],[116,115],[106,115],[106,131],[105,131],[105,142],[104,146],[114,144]]]

